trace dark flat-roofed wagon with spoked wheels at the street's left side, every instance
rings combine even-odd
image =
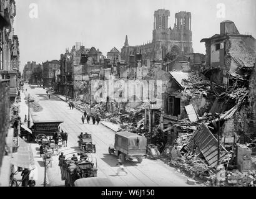
[[[36,141],[37,143],[41,144],[42,140],[48,141],[50,137],[54,137],[54,134],[58,134],[58,138],[61,139],[61,135],[59,132],[59,125],[63,123],[63,121],[33,121],[33,125],[30,128],[32,131],[31,133],[26,133],[24,131],[21,136],[25,136],[27,141]]]

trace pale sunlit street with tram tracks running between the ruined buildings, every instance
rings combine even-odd
[[[27,93],[25,89],[27,88]],[[137,162],[126,161],[124,167],[128,174],[116,175],[117,171],[117,157],[108,154],[108,147],[110,144],[114,144],[115,132],[111,131],[101,123],[99,125],[93,125],[92,121],[90,124],[82,124],[81,116],[82,112],[77,109],[69,109],[66,102],[57,98],[57,96],[51,95],[49,99],[46,95],[46,90],[43,88],[35,88],[31,90],[29,86],[25,86],[24,93],[39,101],[43,110],[41,112],[33,112],[31,115],[32,120],[62,120],[64,123],[61,124],[61,128],[69,133],[69,139],[67,141],[67,147],[61,147],[59,143],[60,151],[64,152],[64,155],[79,152],[80,149],[77,143],[77,136],[81,132],[87,132],[92,134],[92,142],[96,144],[96,154],[92,156],[97,159],[98,174],[97,177],[106,177],[111,180],[114,186],[189,186],[187,185],[187,177],[179,172],[175,171],[168,165],[165,165],[161,160],[150,160],[143,159],[141,164]],[[24,100],[24,99],[22,99]],[[21,104],[22,105],[22,104]],[[21,115],[27,114],[26,108],[21,109]],[[22,111],[24,113],[22,113]],[[37,169],[38,179],[43,180],[44,165],[42,159],[39,156],[39,146],[37,144],[31,144],[34,150],[36,165],[40,165],[41,169]],[[37,147],[36,147],[37,145]],[[71,155],[66,155],[70,157]],[[59,161],[57,155],[53,157],[52,167],[47,169],[47,181],[49,186],[63,186],[64,180],[61,180],[61,171],[59,169]],[[42,182],[41,182],[42,184]]]

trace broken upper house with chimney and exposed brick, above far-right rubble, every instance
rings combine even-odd
[[[206,73],[219,85],[228,86],[232,73],[250,75],[255,63],[256,40],[252,35],[242,35],[234,22],[220,23],[220,34],[202,39],[206,47]]]

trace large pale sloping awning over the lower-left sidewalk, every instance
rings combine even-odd
[[[18,137],[18,146],[17,152],[13,153],[11,164],[29,170],[34,169],[35,162],[31,146],[22,140],[21,137]]]

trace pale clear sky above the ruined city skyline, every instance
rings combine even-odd
[[[126,35],[129,45],[145,44],[152,40],[157,9],[170,11],[171,28],[176,12],[191,12],[194,52],[205,54],[200,40],[219,34],[224,20],[234,21],[240,34],[256,38],[255,0],[16,0],[20,70],[29,61],[59,60],[76,42],[105,56],[113,47],[121,51]]]

